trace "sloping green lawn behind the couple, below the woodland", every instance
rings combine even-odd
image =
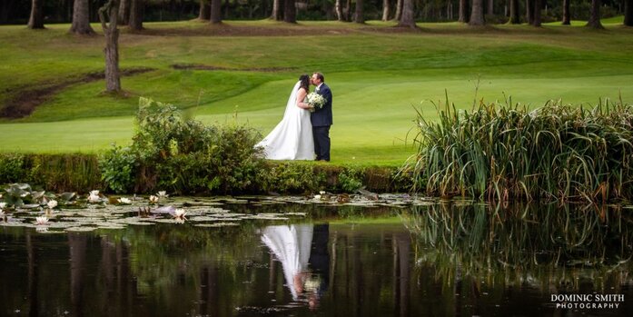
[[[188,108],[206,123],[233,120],[237,112],[238,121],[267,134],[299,74],[318,70],[334,94],[332,161],[399,164],[414,152],[413,135],[407,140],[412,107],[433,120],[433,103],[443,103],[445,90],[460,108],[506,96],[530,106],[559,98],[596,104],[620,93],[633,102],[633,29],[620,26],[621,17],[603,23],[607,30],[449,23],[419,24],[415,32],[373,21],[145,24],[146,32],[124,32],[120,42],[123,68],[154,69],[124,77],[128,97],[102,94],[103,81],[69,86],[25,119],[0,120],[0,150],[95,152],[124,144],[134,131],[138,96]],[[0,26],[0,103],[25,89],[103,69],[102,36],[68,35],[69,25],[47,27]],[[249,36],[249,30],[274,36]],[[226,69],[175,70],[173,64]]]

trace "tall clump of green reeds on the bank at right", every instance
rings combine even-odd
[[[437,108],[438,122],[418,111],[418,153],[404,166],[417,192],[490,201],[633,198],[633,105],[621,99]]]

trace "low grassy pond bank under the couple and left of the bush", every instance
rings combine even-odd
[[[262,165],[268,177],[256,180],[252,189],[234,192],[190,188],[155,188],[146,185],[146,175],[137,175],[134,193],[154,193],[168,190],[179,194],[203,193],[352,193],[364,188],[374,193],[403,193],[411,187],[411,178],[401,175],[397,167],[351,166],[313,162],[272,162]],[[191,176],[191,177],[189,177]],[[183,175],[193,178],[196,175]],[[143,185],[140,183],[143,182]],[[87,193],[93,189],[106,190],[96,154],[0,154],[0,183],[29,183],[46,191]],[[219,188],[225,188],[220,186]]]

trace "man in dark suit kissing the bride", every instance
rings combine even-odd
[[[314,153],[316,161],[330,162],[330,126],[331,120],[331,90],[325,84],[325,78],[321,73],[312,74],[311,84],[316,86],[314,92],[325,98],[325,104],[321,109],[316,109],[310,114],[312,121],[312,136],[314,137]]]

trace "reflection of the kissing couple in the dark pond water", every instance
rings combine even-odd
[[[311,308],[318,305],[321,294],[328,287],[329,234],[329,224],[312,223],[273,225],[262,231],[262,242],[282,263],[292,300],[304,296]]]

